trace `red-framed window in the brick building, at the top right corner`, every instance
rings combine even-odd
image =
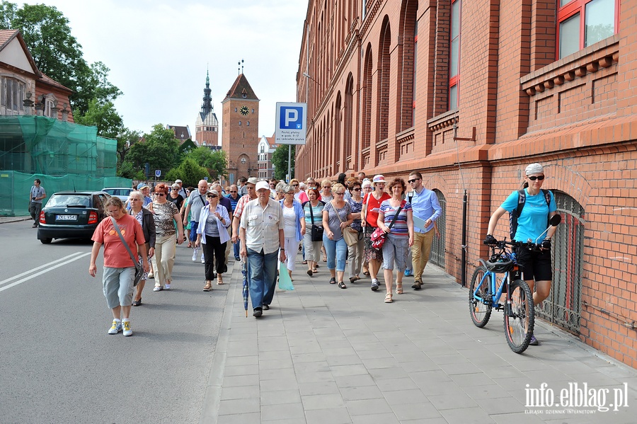
[[[619,0],[559,0],[558,55],[561,59],[619,29]]]

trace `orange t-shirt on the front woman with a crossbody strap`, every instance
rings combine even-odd
[[[137,219],[132,215],[124,215],[117,221],[122,236],[130,247],[133,255],[137,254],[137,244],[144,244],[144,231]],[[91,238],[104,245],[104,266],[109,268],[130,268],[135,266],[130,253],[122,244],[119,234],[113,227],[113,220],[106,217],[100,222]]]

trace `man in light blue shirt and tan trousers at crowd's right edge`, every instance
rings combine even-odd
[[[429,261],[431,244],[435,234],[434,222],[440,217],[442,207],[438,202],[436,193],[427,190],[423,185],[423,176],[420,172],[409,174],[407,181],[413,189],[411,206],[413,208],[413,246],[411,246],[413,265],[413,285],[414,290],[420,290],[423,285],[423,270]],[[420,223],[420,226],[417,224]]]

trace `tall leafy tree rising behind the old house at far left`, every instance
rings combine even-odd
[[[0,29],[20,30],[38,69],[74,91],[70,96],[74,116],[84,115],[93,98],[105,103],[122,92],[108,82],[108,67],[102,62],[90,66],[82,46],[71,35],[69,20],[54,6],[2,1]]]

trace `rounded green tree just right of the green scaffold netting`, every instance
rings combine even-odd
[[[179,142],[175,133],[166,130],[161,124],[154,125],[149,134],[144,134],[144,141],[133,144],[126,155],[126,160],[134,168],[144,169],[144,164],[148,162],[151,170],[164,171],[176,166],[179,159]]]

